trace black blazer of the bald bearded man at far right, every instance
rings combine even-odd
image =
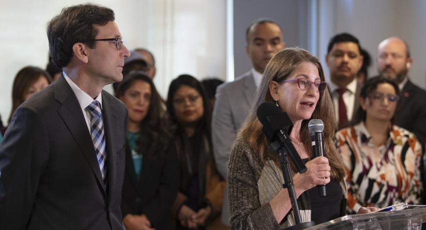
[[[426,141],[426,91],[407,80],[395,111],[395,124],[414,132],[424,149]]]

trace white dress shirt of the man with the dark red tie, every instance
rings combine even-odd
[[[346,105],[346,115],[348,121],[352,119],[353,106],[355,104],[355,93],[356,93],[356,79],[353,79],[348,85],[346,85],[347,90],[343,93],[343,101]],[[336,115],[337,121],[339,121],[339,91],[338,86],[335,85],[332,81],[329,82],[331,93],[333,94],[333,104],[334,104],[334,113]]]

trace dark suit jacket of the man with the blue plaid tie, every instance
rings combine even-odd
[[[123,229],[127,109],[102,91],[108,187],[62,76],[18,107],[0,145],[0,229]]]

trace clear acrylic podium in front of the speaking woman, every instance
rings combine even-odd
[[[306,229],[357,229],[357,230],[420,230],[426,221],[426,207],[370,214],[345,215]]]

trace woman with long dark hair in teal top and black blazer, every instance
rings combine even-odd
[[[170,206],[176,197],[178,164],[175,146],[152,80],[130,72],[116,96],[128,109],[126,165],[121,199],[127,229],[173,229]]]

